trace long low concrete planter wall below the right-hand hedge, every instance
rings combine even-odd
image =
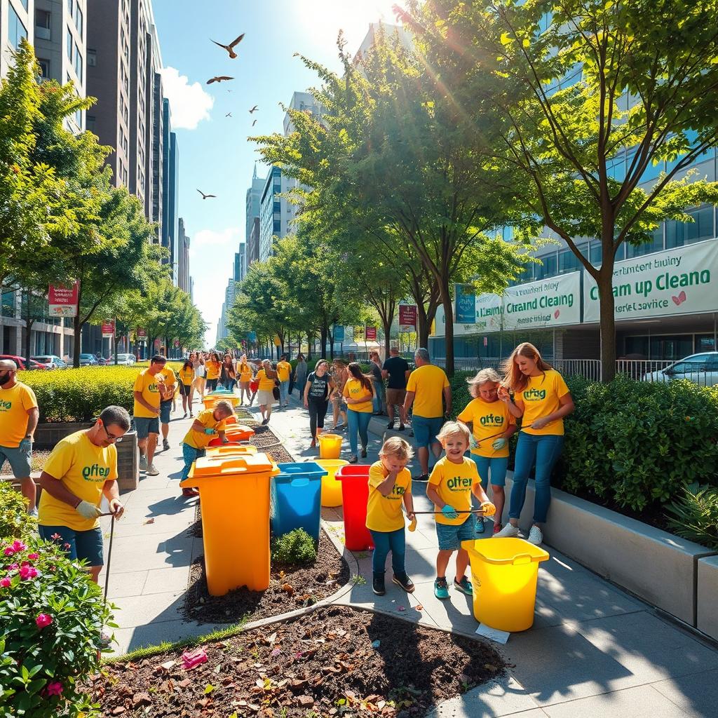
[[[533,495],[533,481],[529,481],[519,521],[521,528],[531,526]],[[551,489],[544,538],[546,544],[600,576],[700,628],[696,615],[699,559],[715,556],[716,551],[555,488]],[[714,574],[708,568],[705,574],[713,575],[715,596],[718,560],[713,566]],[[704,623],[707,620],[704,617]],[[712,620],[714,628],[718,628],[714,616]]]

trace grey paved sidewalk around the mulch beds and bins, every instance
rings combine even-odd
[[[252,411],[258,412],[256,407]],[[162,474],[143,478],[139,490],[124,496],[127,515],[116,524],[110,584],[110,595],[122,609],[116,613],[121,625],[116,632],[120,652],[213,629],[184,623],[177,612],[191,561],[202,550],[201,539],[187,537],[186,531],[194,521],[195,500],[180,498],[177,488],[182,466],[179,442],[189,422],[180,419],[170,424],[172,448],[156,460]],[[330,419],[327,426],[331,423]],[[287,409],[275,409],[270,427],[297,460],[317,456],[315,449],[308,448],[307,412],[296,400]],[[383,421],[372,421],[372,429],[383,433],[385,427]],[[363,462],[376,461],[380,447],[381,434],[370,434],[369,455]],[[348,448],[342,457],[348,457]],[[425,488],[426,484],[414,482],[417,510],[430,508]],[[324,509],[322,516],[330,531],[341,538],[340,509]],[[154,523],[144,523],[151,517]],[[406,569],[416,584],[414,594],[406,595],[391,583],[389,568],[386,596],[373,595],[371,556],[363,552],[355,556],[365,582],[357,581],[341,602],[473,635],[477,622],[470,597],[453,588],[447,601],[434,597],[437,549],[433,519],[417,518],[417,530],[406,533]],[[490,526],[486,528],[488,539]],[[533,628],[511,635],[508,644],[500,648],[513,667],[490,687],[480,686],[444,701],[436,709],[437,718],[716,715],[718,650],[714,645],[668,622],[653,608],[550,546],[546,549],[551,559],[539,569]],[[453,562],[447,573],[449,584],[452,567]],[[450,647],[447,638],[447,661],[451,660]]]

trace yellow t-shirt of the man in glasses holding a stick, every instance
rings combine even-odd
[[[105,482],[117,478],[117,448],[113,444],[95,446],[86,431],[75,432],[55,444],[42,470],[62,481],[79,499],[99,506]],[[96,518],[83,518],[72,506],[50,496],[47,491],[40,495],[37,514],[40,526],[67,526],[73,531],[90,531],[100,525]]]

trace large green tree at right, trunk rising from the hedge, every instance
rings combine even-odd
[[[687,207],[718,200],[715,183],[681,177],[718,144],[718,7],[429,0],[404,19],[443,94],[477,134],[498,127],[488,154],[526,177],[527,207],[595,279],[609,381],[617,250],[649,241],[663,220],[690,221]],[[649,180],[663,162],[666,171]],[[597,262],[578,238],[600,241]]]

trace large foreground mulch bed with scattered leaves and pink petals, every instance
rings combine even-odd
[[[106,716],[420,718],[505,668],[480,640],[339,606],[204,648],[189,670],[182,651],[108,663],[93,699]]]

